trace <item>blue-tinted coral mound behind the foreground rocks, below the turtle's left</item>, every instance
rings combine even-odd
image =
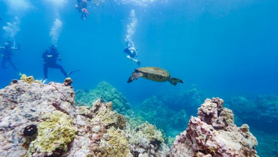
[[[131,109],[131,104],[128,99],[106,81],[100,82],[97,87],[88,92],[78,89],[76,90],[75,105],[77,106],[92,106],[97,99],[113,103],[113,110],[119,113],[126,114]]]

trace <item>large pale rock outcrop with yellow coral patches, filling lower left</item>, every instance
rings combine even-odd
[[[74,106],[67,82],[25,77],[0,89],[0,157],[166,156],[169,149],[154,125],[130,127],[111,102],[100,99],[92,107]]]

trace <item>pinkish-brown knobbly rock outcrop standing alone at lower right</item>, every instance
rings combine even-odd
[[[198,108],[198,117],[191,117],[167,156],[256,157],[258,142],[249,132],[249,126],[237,127],[232,110],[222,106],[222,99],[206,99]]]

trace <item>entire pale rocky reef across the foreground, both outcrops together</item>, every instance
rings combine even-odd
[[[249,126],[237,127],[222,99],[207,99],[169,150],[155,125],[134,126],[112,111],[112,102],[74,106],[68,82],[42,84],[24,75],[0,89],[0,157],[257,156]]]

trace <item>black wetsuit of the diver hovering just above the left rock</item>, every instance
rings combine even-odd
[[[52,55],[52,57],[47,57],[48,55]],[[60,69],[60,71],[64,74],[65,77],[68,77],[68,74],[65,72],[64,68],[57,64],[57,58],[59,57],[59,53],[57,50],[46,50],[43,53],[44,58],[44,78],[48,79],[47,73],[48,73],[48,68],[54,68],[54,69]]]

